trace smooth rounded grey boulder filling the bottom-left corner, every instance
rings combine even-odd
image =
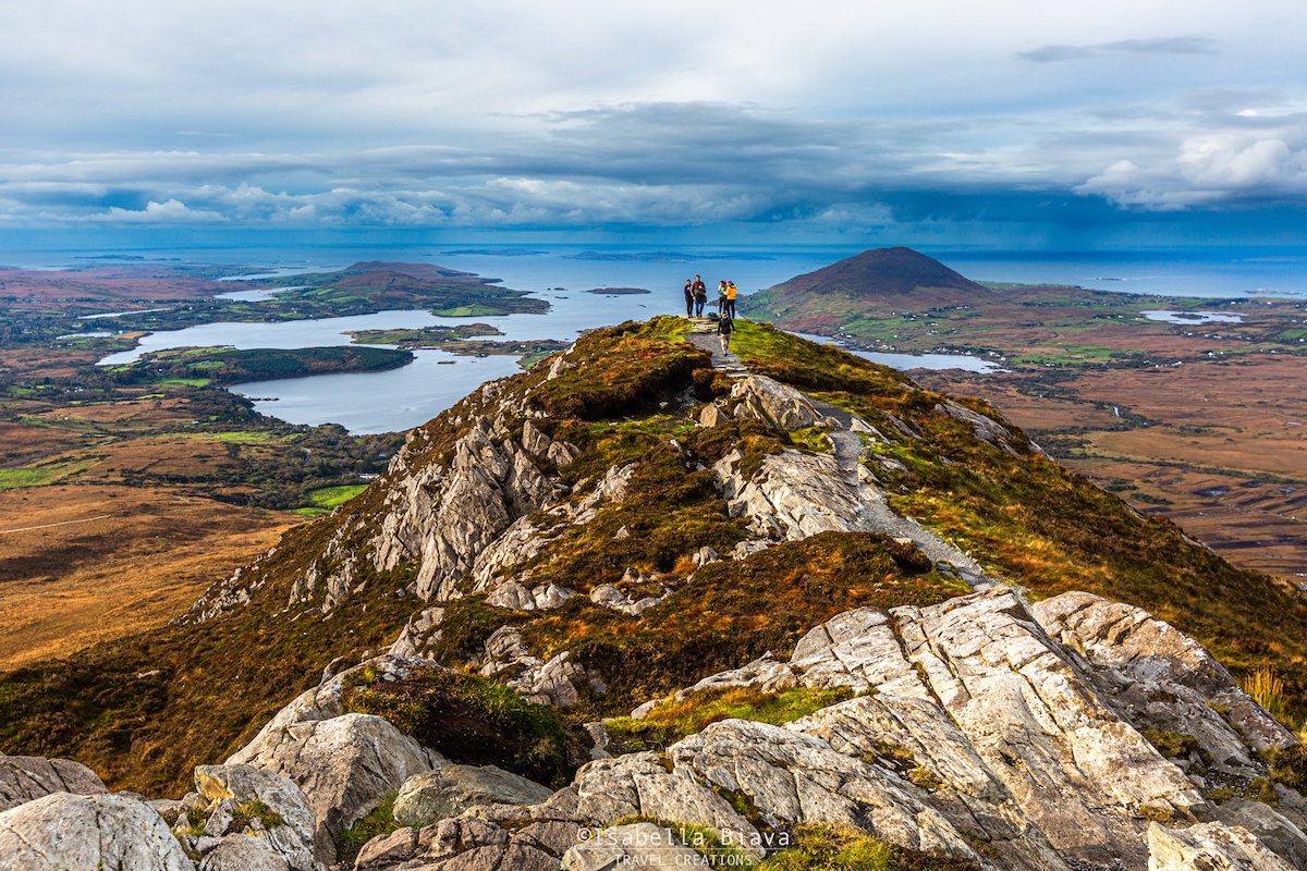
[[[193,871],[195,866],[145,802],[51,793],[0,814],[0,868]]]

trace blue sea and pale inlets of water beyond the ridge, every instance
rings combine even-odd
[[[358,249],[306,252],[235,252],[221,260],[214,252],[188,252],[195,262],[269,264],[259,272],[229,276],[233,282],[291,276],[348,266],[359,260],[433,262],[451,269],[499,278],[507,287],[531,291],[549,302],[546,315],[476,317],[499,329],[507,340],[574,340],[583,330],[660,313],[682,313],[681,286],[702,274],[710,289],[719,279],[736,282],[742,293],[770,287],[813,272],[855,251],[809,249],[699,249],[673,256],[601,248],[586,253],[578,247],[540,245],[531,249]],[[1307,266],[1297,260],[1260,259],[1256,252],[1227,252],[1192,259],[1176,255],[1019,255],[927,251],[963,274],[980,281],[1072,283],[1103,290],[1189,296],[1248,296],[1260,293],[1299,295]],[[684,255],[684,256],[682,256]],[[595,287],[644,287],[647,295],[593,295]],[[280,290],[280,289],[277,289]],[[277,290],[235,290],[230,299],[267,299]],[[1162,312],[1166,309],[1158,309]],[[1219,312],[1217,312],[1219,313]],[[391,311],[280,324],[223,323],[153,333],[140,345],[102,363],[124,363],[148,351],[169,347],[227,345],[233,347],[320,347],[348,345],[348,330],[420,329],[455,325],[460,319],[437,317],[425,311]],[[467,319],[461,319],[467,323]],[[1197,321],[1185,321],[1197,323]],[[822,337],[819,341],[831,341]],[[884,354],[855,351],[895,368],[997,370],[997,364],[958,354]],[[442,363],[444,360],[444,363]],[[450,360],[454,360],[452,364]],[[417,351],[412,364],[387,372],[327,375],[308,379],[260,381],[233,388],[257,397],[256,407],[291,423],[341,423],[352,432],[406,430],[434,417],[488,379],[518,371],[512,356],[467,358],[443,351]]]

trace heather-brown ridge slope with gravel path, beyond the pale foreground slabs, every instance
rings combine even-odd
[[[741,388],[685,329],[597,330],[482,387],[187,620],[7,675],[0,751],[180,791],[329,663],[396,637],[580,720],[789,649],[842,611],[993,581],[1140,605],[1300,692],[1297,592],[1068,474],[985,404],[753,324],[736,350],[776,387]],[[928,558],[932,541],[966,552]]]

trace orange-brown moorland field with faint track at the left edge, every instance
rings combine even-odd
[[[0,671],[162,626],[289,520],[167,488],[0,492]]]

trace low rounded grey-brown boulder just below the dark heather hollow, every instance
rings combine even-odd
[[[443,765],[404,781],[395,798],[400,825],[431,825],[476,804],[538,804],[553,790],[495,765]]]

